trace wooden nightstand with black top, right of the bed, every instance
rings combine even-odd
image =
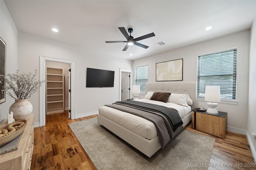
[[[192,110],[192,128],[211,135],[225,138],[228,130],[228,113],[218,114]]]

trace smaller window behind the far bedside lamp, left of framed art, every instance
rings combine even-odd
[[[148,82],[148,66],[135,68],[135,85],[140,85],[140,93],[146,93],[146,82]]]

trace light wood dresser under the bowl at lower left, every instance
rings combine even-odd
[[[0,126],[6,125],[4,120]],[[27,125],[23,131],[18,150],[0,155],[1,170],[29,170],[31,166],[34,147],[34,113],[27,119]]]

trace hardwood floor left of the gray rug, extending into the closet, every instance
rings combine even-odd
[[[68,112],[46,115],[46,125],[34,129],[31,170],[96,170],[68,123]]]

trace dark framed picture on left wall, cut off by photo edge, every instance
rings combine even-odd
[[[5,70],[6,70],[6,43],[0,37],[0,75],[4,75],[5,78]],[[0,104],[5,102],[5,93],[2,94],[1,90],[5,87],[5,82],[0,78]]]

